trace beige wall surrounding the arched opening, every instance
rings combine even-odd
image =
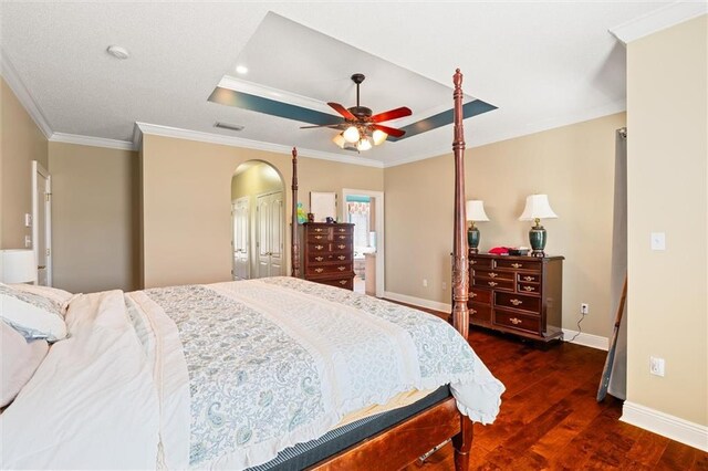
[[[145,135],[145,285],[230,280],[231,176],[243,161],[268,161],[285,180],[290,212],[291,158],[290,154]],[[383,170],[301,157],[299,186],[299,200],[306,208],[310,191],[337,191],[341,201],[342,188],[383,190]]]

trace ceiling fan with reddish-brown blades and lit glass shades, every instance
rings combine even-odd
[[[404,116],[410,116],[413,113],[410,108],[402,106],[399,108],[389,109],[384,113],[373,114],[371,108],[361,106],[358,98],[358,86],[364,82],[364,74],[352,75],[352,82],[356,84],[356,106],[345,108],[339,103],[329,102],[335,112],[337,112],[344,121],[339,124],[332,125],[317,125],[317,126],[302,126],[301,129],[314,128],[314,127],[330,127],[334,129],[342,129],[342,133],[337,134],[334,143],[343,149],[347,150],[368,150],[372,145],[383,144],[384,140],[391,135],[394,137],[402,137],[406,134],[403,129],[396,129],[389,126],[383,126],[379,123],[385,121],[396,119]]]

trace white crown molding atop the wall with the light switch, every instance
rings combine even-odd
[[[610,33],[628,44],[641,38],[708,13],[706,1],[677,1],[610,29]]]

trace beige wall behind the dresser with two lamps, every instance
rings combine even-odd
[[[559,219],[543,220],[546,253],[565,257],[563,327],[610,335],[610,264],[616,114],[466,151],[467,199],[481,199],[489,222],[478,224],[480,251],[529,245],[531,222],[519,221],[525,197],[548,193]],[[475,121],[466,123],[467,134]],[[452,154],[387,168],[386,291],[450,302]],[[423,286],[427,279],[428,286]],[[446,289],[442,289],[446,283]]]

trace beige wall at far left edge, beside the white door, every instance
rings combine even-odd
[[[46,138],[0,78],[0,249],[22,249],[32,234],[32,160],[48,168]]]

